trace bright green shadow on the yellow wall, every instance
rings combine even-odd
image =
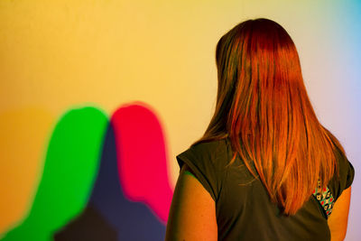
[[[79,215],[97,175],[107,125],[106,115],[95,107],[72,109],[60,118],[29,215],[2,240],[52,240],[57,229]]]

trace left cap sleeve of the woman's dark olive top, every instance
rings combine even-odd
[[[181,167],[186,163],[202,186],[209,192],[212,199],[218,200],[222,185],[222,161],[225,160],[216,144],[199,144],[192,146],[176,156]]]

